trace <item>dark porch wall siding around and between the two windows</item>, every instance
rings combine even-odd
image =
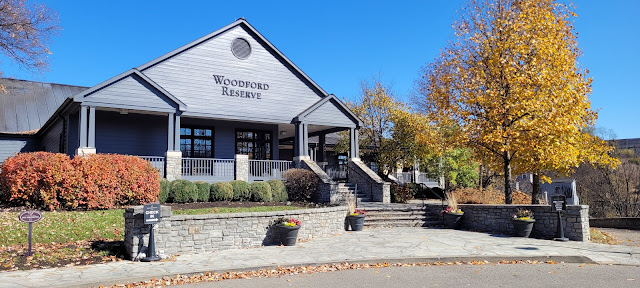
[[[236,129],[267,130],[272,132],[273,160],[278,159],[278,125],[182,118],[182,127],[206,127],[214,129],[214,158],[233,159],[236,154]]]

